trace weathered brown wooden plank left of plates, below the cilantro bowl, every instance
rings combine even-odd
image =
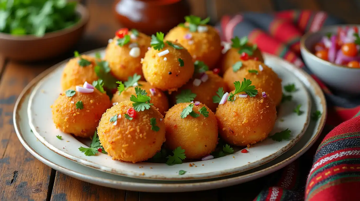
[[[45,200],[51,168],[36,160],[20,143],[13,125],[14,103],[44,66],[9,62],[0,81],[0,200]]]

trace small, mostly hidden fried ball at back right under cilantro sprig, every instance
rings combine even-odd
[[[249,44],[252,46],[252,44]],[[232,68],[233,65],[238,61],[244,61],[241,59],[241,54],[238,53],[239,49],[237,48],[230,48],[222,57],[222,64],[221,64],[221,70],[222,73],[225,73],[226,70],[229,68]],[[257,61],[261,61],[264,63],[264,58],[262,57],[262,54],[258,48],[256,48],[253,51],[253,55],[250,55],[250,60],[253,60],[253,58],[257,58]]]

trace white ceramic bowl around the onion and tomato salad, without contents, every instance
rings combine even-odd
[[[338,27],[346,26],[359,27],[355,24],[334,25],[324,27],[318,32],[306,33],[300,41],[301,55],[306,66],[331,88],[350,94],[360,94],[360,68],[337,65],[320,59],[310,52],[326,33],[337,33]]]

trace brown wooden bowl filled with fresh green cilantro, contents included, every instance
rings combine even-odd
[[[75,1],[0,0],[0,53],[21,61],[55,57],[80,39],[88,21]]]

